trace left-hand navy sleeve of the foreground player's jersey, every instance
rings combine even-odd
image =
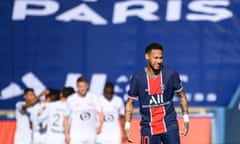
[[[138,85],[136,75],[133,75],[130,81],[130,88],[128,90],[128,97],[130,99],[138,99]]]

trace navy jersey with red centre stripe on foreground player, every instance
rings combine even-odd
[[[154,77],[145,69],[133,75],[128,95],[130,99],[139,100],[142,135],[162,134],[178,128],[172,99],[174,92],[182,89],[179,74],[167,67],[162,67]]]

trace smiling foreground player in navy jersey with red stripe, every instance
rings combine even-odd
[[[188,101],[179,74],[163,66],[163,47],[151,43],[146,47],[147,67],[135,73],[131,79],[125,106],[125,134],[129,142],[130,122],[134,101],[139,100],[141,114],[141,144],[180,144],[177,114],[173,96],[179,96],[184,119],[183,136],[189,130]]]

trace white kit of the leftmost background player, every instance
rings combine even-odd
[[[32,130],[30,128],[30,114],[27,111],[22,111],[25,105],[24,101],[16,103],[16,131],[14,144],[32,144]]]

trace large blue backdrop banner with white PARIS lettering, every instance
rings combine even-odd
[[[73,83],[69,74],[90,82],[100,75],[91,89],[110,80],[124,99],[150,42],[164,46],[164,64],[180,73],[190,106],[226,106],[240,80],[239,7],[238,0],[2,0],[0,109],[14,109],[31,76],[41,88],[62,88]]]

